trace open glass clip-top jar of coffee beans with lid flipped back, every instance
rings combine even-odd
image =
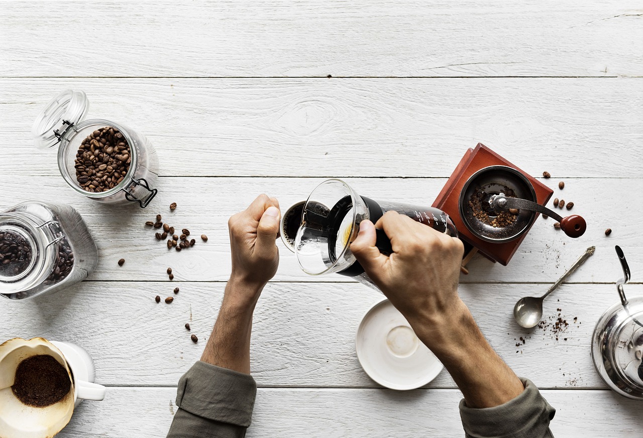
[[[120,123],[84,120],[88,109],[84,92],[60,93],[33,124],[35,146],[58,146],[60,174],[78,193],[105,204],[138,202],[147,207],[157,193],[154,146]]]

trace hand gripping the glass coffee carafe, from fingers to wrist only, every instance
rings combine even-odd
[[[375,227],[389,236],[390,256],[375,246]],[[457,238],[388,211],[375,226],[366,220],[359,224],[350,250],[413,328],[420,322],[448,324],[449,315],[464,306],[458,297],[464,245]]]

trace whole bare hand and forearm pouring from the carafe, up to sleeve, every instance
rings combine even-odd
[[[458,239],[388,212],[377,221],[393,253],[375,246],[375,227],[359,224],[350,250],[458,385],[467,407],[489,408],[516,398],[524,387],[485,340],[458,297],[464,247]]]

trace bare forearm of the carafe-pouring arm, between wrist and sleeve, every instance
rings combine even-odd
[[[446,318],[417,320],[412,326],[449,371],[467,406],[494,407],[520,395],[523,383],[489,346],[464,303],[458,300]]]

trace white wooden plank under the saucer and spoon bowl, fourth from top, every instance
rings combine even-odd
[[[615,286],[563,285],[545,301],[544,326],[520,328],[512,317],[514,303],[542,295],[548,286],[460,285],[460,296],[519,376],[544,388],[604,388],[590,345],[595,322],[618,301]],[[93,356],[96,381],[105,385],[176,385],[203,352],[223,289],[222,283],[84,282],[32,301],[3,303],[0,340],[76,342]],[[627,293],[641,295],[643,285],[628,285]],[[175,299],[157,304],[157,294]],[[383,298],[356,283],[269,283],[253,325],[251,369],[258,385],[378,387],[361,369],[354,342],[359,321]],[[559,317],[568,322],[565,329],[553,326]],[[429,387],[455,383],[442,371]]]

